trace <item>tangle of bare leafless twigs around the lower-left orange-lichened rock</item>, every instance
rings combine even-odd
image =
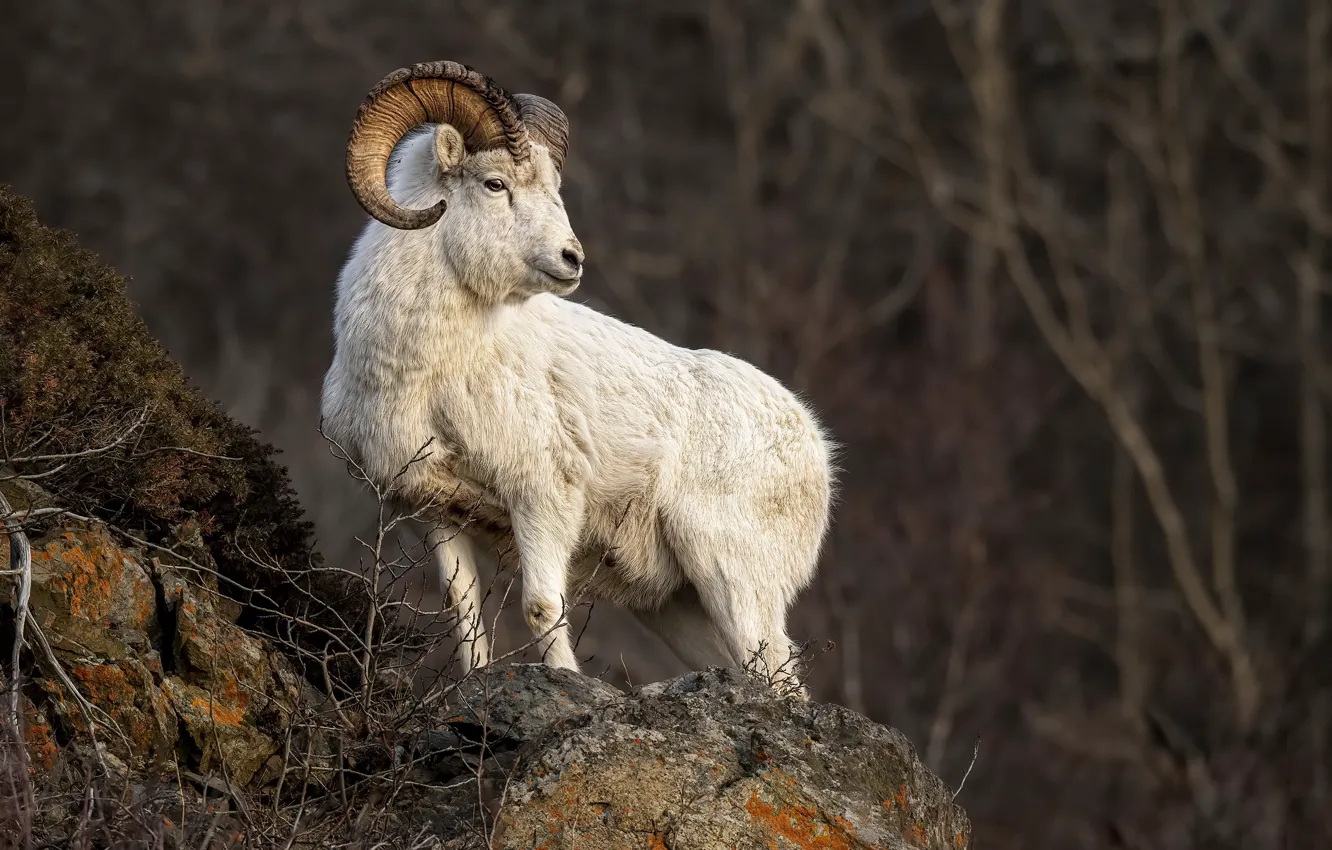
[[[115,445],[128,440],[132,429],[133,424],[116,437]],[[337,452],[337,446],[332,449]],[[422,446],[418,460],[426,450]],[[45,470],[67,460],[25,449],[21,456],[0,458],[0,469],[9,481],[41,481]],[[348,466],[369,485],[354,464]],[[264,553],[249,552],[257,574],[264,577],[260,588],[237,588],[234,578],[220,574],[210,564],[148,540],[145,532],[109,526],[127,545],[173,556],[200,592],[244,597],[249,617],[265,622],[265,632],[256,637],[314,674],[312,679],[321,687],[298,694],[290,703],[284,727],[277,730],[284,741],[281,765],[257,789],[234,786],[225,761],[214,775],[196,775],[181,766],[174,782],[159,777],[157,785],[145,786],[109,753],[104,757],[104,747],[96,743],[99,735],[124,733],[64,673],[27,602],[32,572],[28,536],[71,514],[51,506],[16,509],[0,496],[0,521],[11,558],[4,577],[15,588],[9,610],[19,626],[4,671],[5,722],[0,741],[0,822],[7,846],[41,843],[35,826],[40,821],[43,829],[55,825],[71,846],[88,847],[212,849],[240,842],[261,847],[368,847],[382,841],[424,847],[430,846],[425,838],[433,834],[432,827],[401,817],[410,806],[394,809],[394,803],[432,794],[442,795],[440,805],[454,811],[449,825],[453,831],[466,835],[470,830],[476,846],[486,846],[514,767],[511,754],[500,754],[497,767],[497,754],[490,750],[492,735],[503,730],[489,730],[482,723],[476,739],[453,737],[445,746],[432,743],[440,737],[437,730],[446,729],[441,719],[460,707],[458,687],[469,677],[484,675],[485,669],[460,673],[460,645],[446,637],[458,612],[426,608],[424,594],[412,590],[413,581],[429,573],[429,553],[392,548],[408,517],[394,510],[392,488],[370,489],[378,502],[376,533],[358,541],[364,552],[358,565],[316,564],[310,572],[318,574],[298,574],[265,560]],[[492,577],[485,598],[493,598],[502,610],[515,578],[511,572]],[[329,596],[332,588],[341,588],[341,596]],[[574,604],[581,605],[577,597]],[[518,658],[538,642],[539,636],[497,651],[493,663]],[[91,753],[64,754],[68,758],[57,759],[63,766],[47,771],[35,770],[24,746],[24,694],[31,690],[27,679],[35,654],[44,657],[48,671],[63,677],[95,743]],[[489,679],[482,693],[486,687]],[[36,691],[28,695],[40,701]],[[452,767],[444,775],[425,767],[422,759]]]

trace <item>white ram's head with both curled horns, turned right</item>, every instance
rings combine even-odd
[[[404,152],[397,185],[426,208],[389,192],[388,165],[412,131],[433,124],[433,144]],[[421,63],[384,77],[352,125],[346,176],[361,207],[404,230],[429,228],[448,212],[441,248],[469,286],[498,297],[567,294],[583,252],[559,197],[569,120],[537,95],[510,95],[490,77],[452,61]]]

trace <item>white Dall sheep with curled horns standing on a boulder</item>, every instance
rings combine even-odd
[[[565,300],[583,272],[567,137],[555,104],[457,63],[370,92],[346,161],[373,220],[337,280],[325,434],[430,506],[469,669],[489,661],[478,549],[514,544],[546,663],[578,669],[563,613],[586,588],[695,669],[758,661],[803,693],[786,616],[829,526],[832,445],[753,365]]]

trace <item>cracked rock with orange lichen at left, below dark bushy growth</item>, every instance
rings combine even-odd
[[[9,496],[25,509],[55,506],[37,486],[9,486]],[[84,753],[96,742],[103,763],[133,774],[178,765],[245,787],[278,750],[293,709],[317,701],[290,661],[236,625],[240,606],[217,593],[197,526],[174,532],[174,554],[152,557],[96,521],[57,518],[32,541],[31,612],[52,650],[33,653],[29,677],[35,770],[52,767],[64,737]]]

